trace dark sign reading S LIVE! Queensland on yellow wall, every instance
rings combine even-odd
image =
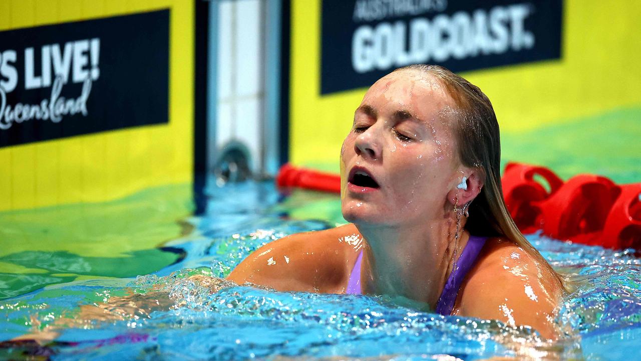
[[[169,15],[0,32],[0,147],[168,123]]]

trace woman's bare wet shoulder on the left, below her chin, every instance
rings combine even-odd
[[[292,234],[250,254],[228,279],[283,291],[340,292],[362,242],[353,224]]]

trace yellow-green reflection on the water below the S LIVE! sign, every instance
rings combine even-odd
[[[135,277],[171,265],[183,250],[158,246],[190,230],[179,221],[191,209],[190,186],[178,185],[101,204],[0,212],[0,300],[46,285]]]

